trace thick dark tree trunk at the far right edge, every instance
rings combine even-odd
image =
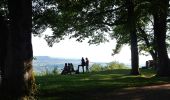
[[[157,1],[159,2],[159,1]],[[154,36],[156,41],[156,51],[158,53],[158,76],[170,76],[170,62],[166,47],[166,19],[169,7],[169,0],[162,0],[158,3],[154,12]],[[160,6],[161,5],[161,6]]]

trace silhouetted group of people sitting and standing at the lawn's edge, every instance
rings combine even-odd
[[[61,74],[62,75],[71,74],[72,72],[79,74],[80,66],[82,67],[83,73],[84,73],[84,67],[86,67],[86,72],[89,72],[89,60],[87,57],[85,59],[84,57],[82,57],[81,64],[78,65],[77,70],[74,70],[74,66],[72,63],[65,63],[64,69],[62,70]]]

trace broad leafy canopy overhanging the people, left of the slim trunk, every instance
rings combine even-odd
[[[124,6],[118,0],[34,0],[33,30],[35,34],[43,32],[47,27],[53,34],[46,36],[48,44],[63,39],[68,35],[82,41],[89,38],[89,43],[108,41],[108,33],[112,26],[121,19],[115,13],[122,13]]]

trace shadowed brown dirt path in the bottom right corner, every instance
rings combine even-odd
[[[170,100],[170,84],[126,88],[98,98],[100,100]]]

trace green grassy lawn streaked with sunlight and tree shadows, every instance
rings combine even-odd
[[[155,77],[153,70],[129,75],[129,69],[74,75],[36,76],[39,100],[102,100],[110,92],[126,87],[169,83],[170,78]]]

